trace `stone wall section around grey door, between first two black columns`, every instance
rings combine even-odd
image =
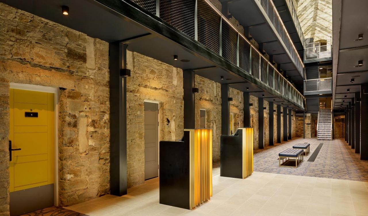
[[[159,102],[159,140],[183,136],[183,71],[127,51],[128,188],[144,183],[144,101]]]

